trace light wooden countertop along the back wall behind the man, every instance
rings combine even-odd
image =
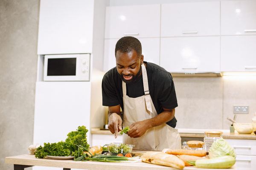
[[[204,133],[202,131],[205,130],[194,130],[195,133],[189,130],[181,130],[180,137],[192,137],[192,138],[204,138]],[[222,137],[223,139],[248,139],[248,140],[256,140],[256,135],[253,134],[240,134],[240,133],[230,133],[227,130],[223,130]],[[109,130],[100,130],[100,127],[91,128],[91,134],[102,134],[102,135],[113,135]],[[187,132],[187,133],[186,133]],[[118,133],[118,135],[121,135]]]

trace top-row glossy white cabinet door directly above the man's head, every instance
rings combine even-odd
[[[109,6],[105,22],[105,38],[160,37],[160,4]]]

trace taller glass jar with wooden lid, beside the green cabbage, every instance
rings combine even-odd
[[[220,130],[206,130],[204,132],[204,150],[206,152],[209,152],[213,142],[222,139],[222,133]]]

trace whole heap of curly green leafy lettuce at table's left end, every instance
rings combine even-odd
[[[78,158],[83,155],[82,152],[78,152],[77,145],[81,145],[84,148],[90,148],[90,145],[87,143],[87,135],[88,130],[85,126],[79,126],[76,131],[72,131],[67,134],[67,139],[65,142],[61,141],[58,143],[44,143],[44,147],[40,146],[35,151],[35,157],[45,158],[47,155],[49,156],[75,156]]]

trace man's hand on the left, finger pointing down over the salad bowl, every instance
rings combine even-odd
[[[109,113],[108,116],[108,129],[111,133],[115,133],[115,138],[117,133],[122,130],[122,118],[117,113]]]

